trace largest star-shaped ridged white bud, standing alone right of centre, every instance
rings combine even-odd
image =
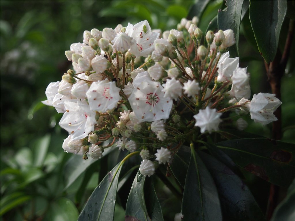
[[[195,126],[201,128],[201,133],[208,131],[211,133],[213,130],[218,130],[218,125],[221,122],[221,113],[217,113],[216,109],[210,109],[208,106],[205,110],[199,110],[199,113],[194,115],[196,119]]]

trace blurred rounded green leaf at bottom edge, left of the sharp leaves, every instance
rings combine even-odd
[[[79,212],[70,199],[60,198],[50,203],[45,220],[48,221],[74,221],[78,219]]]

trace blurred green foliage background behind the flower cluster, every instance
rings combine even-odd
[[[70,44],[82,42],[84,30],[127,26],[128,22],[136,24],[142,20],[148,20],[153,29],[176,29],[194,3],[0,1],[1,220],[75,220],[97,185],[98,174],[86,182],[85,192],[77,194],[84,174],[77,179],[81,172],[74,179],[66,165],[72,154],[65,154],[62,149],[63,139],[68,136],[58,126],[62,114],[40,103],[46,100],[47,85],[61,80],[63,73],[71,69],[71,62],[64,55]],[[200,18],[203,33],[222,7],[223,1],[210,2]],[[269,93],[263,58],[255,47],[249,25],[245,16],[240,29],[240,66],[248,66],[252,94]],[[286,33],[282,37],[286,38]],[[294,58],[294,50],[291,53]],[[282,140],[292,143],[295,143],[294,77],[293,59],[282,79]],[[246,130],[271,137],[271,125],[249,121]],[[117,220],[123,219],[122,207],[116,207],[116,214]],[[167,220],[174,215],[167,215]]]

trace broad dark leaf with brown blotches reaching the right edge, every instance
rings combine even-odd
[[[295,177],[295,145],[267,138],[246,138],[216,144],[238,166],[288,187]]]

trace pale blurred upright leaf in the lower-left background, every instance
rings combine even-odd
[[[44,163],[44,159],[47,154],[47,150],[50,143],[50,134],[40,138],[34,145],[34,166],[40,167]]]

